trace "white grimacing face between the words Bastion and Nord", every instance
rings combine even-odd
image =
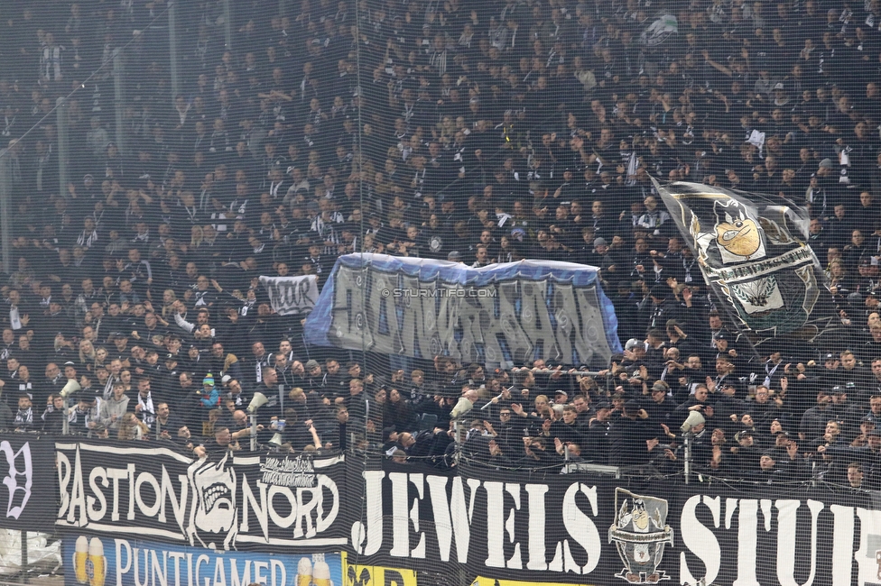
[[[198,539],[209,546],[222,537],[222,545],[228,549],[236,536],[236,474],[229,459],[227,453],[219,462],[199,460],[187,471],[194,501],[189,527],[191,545],[197,545]]]

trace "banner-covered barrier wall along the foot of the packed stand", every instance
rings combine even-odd
[[[0,526],[58,536],[67,586],[881,581],[881,502],[866,490],[354,453],[195,460],[22,434],[0,435],[0,452]]]

